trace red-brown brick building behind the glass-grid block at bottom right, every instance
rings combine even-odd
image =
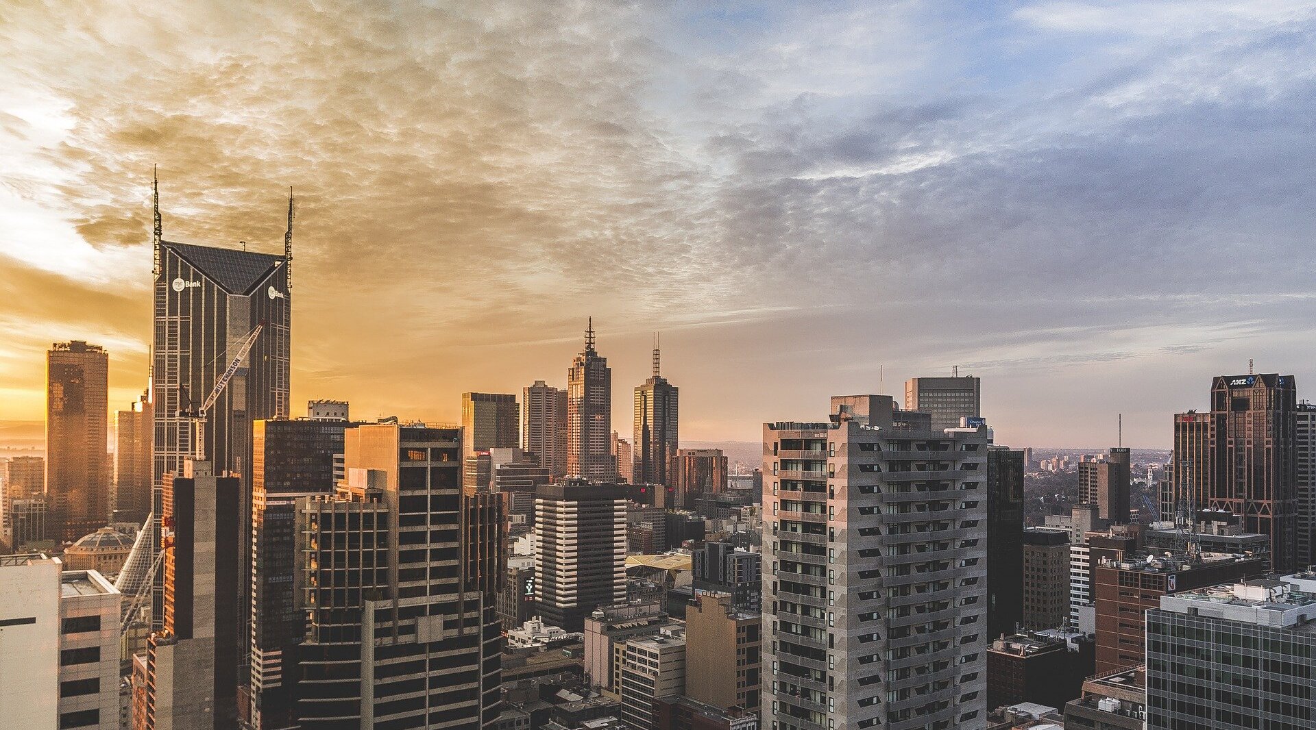
[[[1113,672],[1145,662],[1148,609],[1161,596],[1254,577],[1261,558],[1215,552],[1125,555],[1092,566],[1096,602],[1096,671]]]

